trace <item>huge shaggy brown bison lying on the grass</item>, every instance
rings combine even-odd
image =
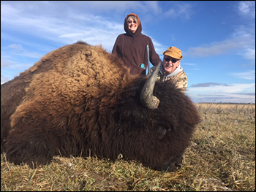
[[[200,116],[171,82],[145,88],[147,80],[101,46],[77,42],[54,50],[1,85],[1,153],[30,165],[48,164],[54,155],[122,154],[173,171]],[[159,104],[140,100],[145,89]]]

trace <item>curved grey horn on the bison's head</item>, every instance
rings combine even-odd
[[[148,77],[145,85],[142,88],[140,93],[140,101],[144,107],[148,108],[149,110],[157,109],[159,105],[159,99],[156,96],[153,96],[154,91],[154,84],[157,81],[157,74],[159,72],[161,66],[161,62],[157,65],[154,72]]]

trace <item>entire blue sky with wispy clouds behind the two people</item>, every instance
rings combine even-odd
[[[192,101],[255,103],[255,1],[1,1],[1,84],[78,40],[111,52],[132,12],[161,59],[181,49]]]

